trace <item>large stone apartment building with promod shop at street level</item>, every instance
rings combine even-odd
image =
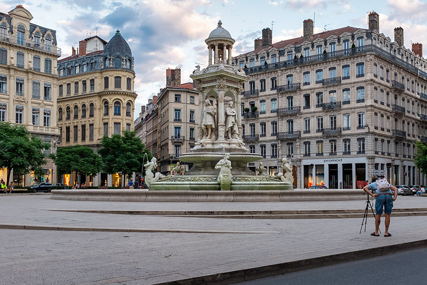
[[[421,44],[404,46],[401,27],[391,41],[379,24],[371,12],[368,29],[313,34],[308,19],[302,37],[277,43],[267,28],[233,58],[250,76],[243,140],[270,175],[291,157],[298,188],[361,188],[374,169],[394,185],[427,182],[413,161],[415,142],[427,142],[427,61]]]

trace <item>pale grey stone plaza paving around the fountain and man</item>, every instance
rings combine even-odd
[[[0,284],[156,284],[427,240],[427,216],[392,217],[392,236],[385,238],[370,236],[374,226],[372,215],[367,231],[359,234],[360,218],[220,219],[50,211],[363,210],[364,207],[364,201],[85,202],[51,200],[49,194],[2,194],[0,227],[35,225],[53,229],[0,229]],[[427,208],[427,197],[399,196],[394,207]],[[75,228],[97,231],[57,230]]]

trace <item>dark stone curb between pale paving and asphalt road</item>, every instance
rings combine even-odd
[[[192,277],[187,279],[175,280],[157,283],[156,285],[198,285],[198,284],[231,284],[259,278],[276,276],[295,271],[302,271],[322,266],[335,265],[350,261],[363,260],[368,258],[380,257],[383,255],[401,252],[405,250],[427,247],[427,240],[419,240],[401,244],[393,244],[381,247],[343,252],[338,254],[326,255],[324,257],[297,260],[267,266],[241,269],[230,272],[211,274],[206,276]]]

